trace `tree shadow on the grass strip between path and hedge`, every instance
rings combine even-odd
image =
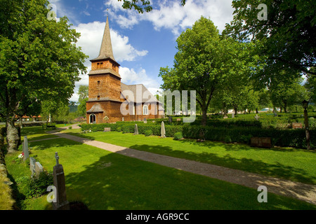
[[[206,143],[208,146],[217,146],[216,143]],[[222,145],[220,145],[222,146]],[[230,145],[228,145],[230,146]],[[228,147],[227,146],[227,147]],[[234,147],[234,146],[232,146]],[[238,146],[236,146],[238,148]],[[169,155],[176,158],[183,158],[187,160],[194,160],[197,162],[209,163],[212,165],[218,165],[220,167],[228,167],[232,169],[240,169],[246,172],[262,174],[265,176],[272,176],[282,179],[288,179],[292,181],[298,181],[302,183],[315,184],[316,176],[310,176],[305,170],[298,169],[291,166],[282,165],[277,162],[274,165],[265,163],[261,160],[253,160],[248,158],[237,159],[230,154],[226,154],[224,157],[218,156],[216,153],[211,152],[185,152],[173,150],[169,146],[150,146],[150,145],[133,145],[130,148],[147,151],[151,153],[157,153],[161,155]]]

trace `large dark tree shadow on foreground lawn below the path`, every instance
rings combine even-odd
[[[85,165],[82,172],[64,171],[67,200],[79,200],[92,210],[315,209],[270,193],[269,203],[258,203],[255,189],[116,153]]]

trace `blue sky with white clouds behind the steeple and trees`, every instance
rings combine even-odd
[[[57,17],[64,15],[72,28],[81,33],[77,45],[89,56],[87,72],[91,70],[89,59],[98,57],[109,16],[113,54],[121,64],[119,73],[125,84],[143,83],[156,93],[162,84],[158,77],[160,67],[173,66],[176,54],[176,38],[185,29],[192,27],[203,15],[210,18],[223,31],[232,20],[231,0],[152,0],[154,10],[139,14],[125,10],[118,0],[51,0]],[[108,10],[107,10],[108,9]],[[79,85],[88,85],[88,75],[81,75],[76,83],[71,101],[77,102]]]

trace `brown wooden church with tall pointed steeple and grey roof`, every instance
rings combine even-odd
[[[115,61],[113,56],[108,18],[99,56],[90,61],[88,102],[86,102],[88,124],[163,117],[162,104],[143,84],[125,85],[121,83],[120,64]],[[126,95],[126,92],[129,94]],[[128,113],[126,114],[124,111],[128,111]]]

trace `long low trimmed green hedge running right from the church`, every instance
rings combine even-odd
[[[98,124],[98,125],[81,125],[81,130],[92,130],[93,132],[103,132],[105,127],[110,127],[111,131],[121,131],[123,133],[134,133],[135,124],[117,123],[117,124]],[[152,134],[160,135],[160,125],[138,124],[138,133],[145,134],[147,130]],[[262,129],[260,127],[202,127],[200,125],[165,125],[166,137],[174,137],[176,132],[182,132],[186,139],[200,139],[200,132],[204,133],[204,139],[210,141],[239,142],[249,144],[251,137],[270,137],[272,145],[290,146],[296,148],[305,148],[305,130],[277,130]],[[316,130],[310,130],[310,143],[312,147],[316,146]]]

